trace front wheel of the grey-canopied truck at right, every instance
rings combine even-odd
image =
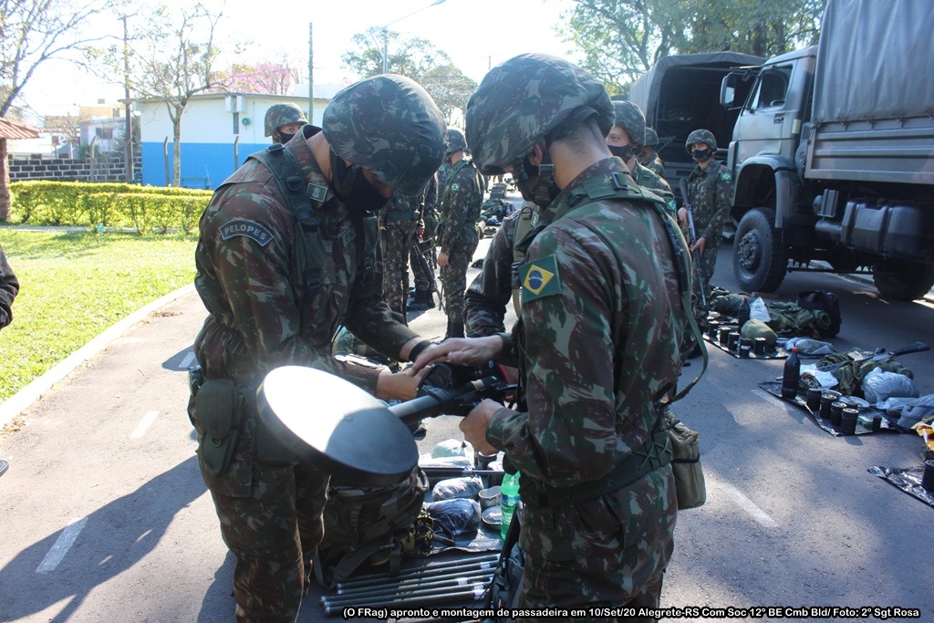
[[[788,252],[779,242],[775,210],[757,207],[740,219],[733,239],[733,275],[746,292],[778,290],[788,268]]]

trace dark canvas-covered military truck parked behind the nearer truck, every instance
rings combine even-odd
[[[699,128],[714,133],[720,148],[726,148],[739,109],[718,104],[721,81],[735,67],[760,66],[760,56],[736,52],[676,54],[666,56],[630,86],[630,102],[645,113],[645,124],[658,133],[658,157],[665,163],[665,177],[678,185],[697,163],[685,149],[687,135]],[[752,82],[737,88],[748,91]],[[726,159],[726,149],[718,158]]]

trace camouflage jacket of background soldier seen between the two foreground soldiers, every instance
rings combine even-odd
[[[464,156],[451,165],[445,190],[441,192],[441,240],[443,253],[450,254],[472,240],[476,219],[483,206],[483,183],[473,161]]]

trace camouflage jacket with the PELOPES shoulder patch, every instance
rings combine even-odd
[[[318,193],[312,206],[325,256],[318,292],[309,297],[295,275],[298,226],[275,178],[249,160],[215,191],[201,217],[195,287],[209,315],[195,353],[207,378],[249,385],[295,364],[345,375],[373,390],[378,370],[350,371],[332,359],[338,327],[390,354],[416,333],[392,319],[376,262],[363,257],[361,219],[334,195],[303,134],[289,147],[309,189]]]

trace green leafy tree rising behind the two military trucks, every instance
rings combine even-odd
[[[575,0],[560,29],[584,66],[624,91],[669,54],[772,56],[817,41],[827,0]]]

